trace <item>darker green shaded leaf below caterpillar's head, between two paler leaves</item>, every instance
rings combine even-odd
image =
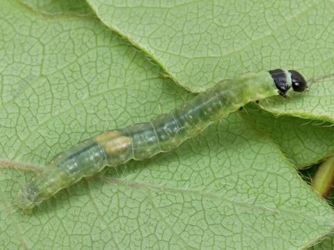
[[[267,103],[271,100],[263,102],[264,105]],[[253,129],[268,135],[280,145],[285,156],[298,168],[317,163],[334,151],[333,123],[301,119],[291,114],[273,115],[253,103],[244,108],[242,117]]]

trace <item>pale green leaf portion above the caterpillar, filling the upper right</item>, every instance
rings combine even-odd
[[[333,1],[87,2],[106,26],[194,91],[260,69],[333,74]]]

